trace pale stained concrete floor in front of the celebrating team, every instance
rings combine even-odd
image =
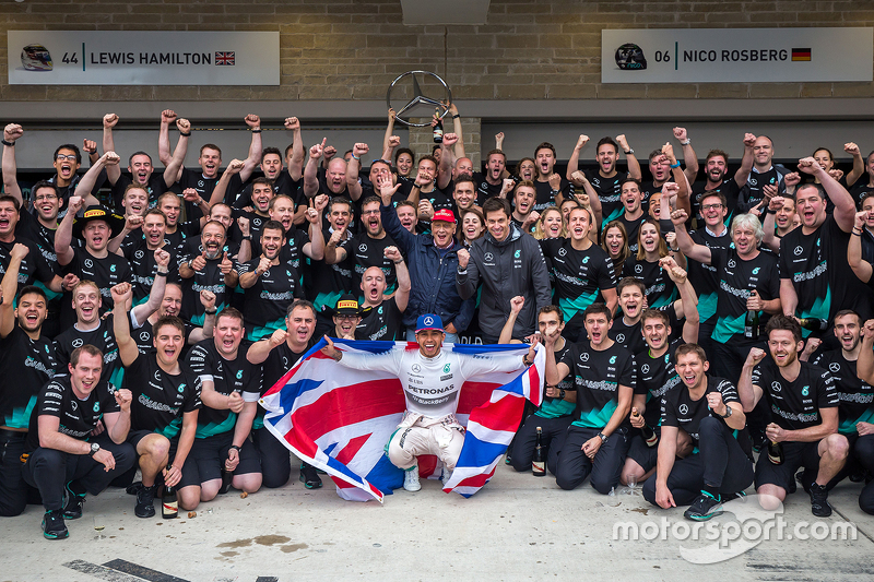
[[[470,499],[445,495],[440,483],[424,482],[417,494],[400,490],[376,501],[341,500],[333,484],[306,490],[296,480],[281,489],[241,499],[228,492],[201,504],[197,516],[164,521],[133,515],[133,497],[109,489],[88,498],[82,519],[68,521],[70,537],[43,538],[42,508],[0,520],[0,581],[152,582],[333,580],[871,580],[874,577],[874,518],[859,510],[860,485],[843,483],[830,496],[835,513],[811,514],[802,491],[790,496],[781,518],[788,535],[803,522],[822,535],[834,524],[852,522],[854,541],[771,539],[724,561],[690,563],[683,547],[700,550],[692,559],[723,559],[739,543],[681,541],[672,523],[685,508],[663,511],[640,496],[607,498],[588,482],[563,491],[551,477],[517,474],[503,463],[485,489]],[[95,514],[105,538],[97,539]],[[658,534],[665,518],[666,539]],[[747,521],[743,524],[746,527]],[[614,526],[640,527],[638,541],[614,539]],[[649,522],[649,523],[648,523]],[[732,535],[737,522],[728,513],[712,522]],[[674,526],[688,535],[684,525]],[[740,531],[740,530],[739,530]],[[748,537],[756,530],[748,528]],[[701,534],[705,535],[704,533]],[[786,536],[784,536],[786,537]],[[701,549],[709,547],[709,549]],[[688,554],[686,554],[689,556]]]

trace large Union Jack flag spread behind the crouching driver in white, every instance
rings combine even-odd
[[[333,342],[343,352],[363,354],[418,349],[413,342]],[[381,502],[403,485],[403,471],[385,454],[405,408],[401,382],[382,371],[336,365],[321,353],[324,345],[324,338],[320,340],[261,399],[268,411],[264,426],[295,455],[328,473],[341,498]],[[525,399],[541,404],[545,349],[538,349],[529,368],[521,365],[527,345],[445,344],[444,349],[470,356],[519,355],[520,359],[516,372],[481,375],[462,384],[456,417],[468,432],[444,491],[470,497],[494,475],[522,419]],[[421,456],[418,467],[422,477],[440,475],[436,456]]]

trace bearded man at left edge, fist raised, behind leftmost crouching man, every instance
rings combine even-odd
[[[27,503],[21,475],[27,427],[39,389],[57,369],[51,340],[42,335],[46,320],[46,294],[26,286],[17,295],[19,265],[29,252],[24,245],[12,249],[10,264],[0,282],[0,515],[19,515]]]

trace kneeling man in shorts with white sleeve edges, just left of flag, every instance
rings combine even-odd
[[[203,390],[198,431],[191,454],[182,467],[182,494],[210,501],[233,485],[246,494],[261,488],[261,461],[249,440],[261,397],[261,370],[246,359],[243,313],[233,307],[222,311],[215,335],[191,348],[186,363],[200,376]],[[188,508],[193,509],[193,508]]]

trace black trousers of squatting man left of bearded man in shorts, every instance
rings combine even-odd
[[[643,484],[643,498],[656,503],[656,480]],[[708,416],[698,428],[698,453],[677,459],[668,477],[668,488],[677,506],[690,506],[705,485],[720,494],[743,491],[753,483],[753,462],[732,431],[721,420]]]

